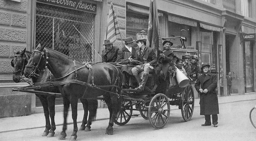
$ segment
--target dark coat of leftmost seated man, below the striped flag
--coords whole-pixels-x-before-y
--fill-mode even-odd
[[[107,63],[113,63],[117,61],[117,52],[119,50],[119,47],[112,47],[110,51],[107,51],[105,48],[101,54],[101,61],[107,62]]]

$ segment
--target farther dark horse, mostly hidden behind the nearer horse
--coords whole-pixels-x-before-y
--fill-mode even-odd
[[[16,83],[20,82],[21,77],[23,75],[23,71],[25,69],[25,65],[27,65],[29,56],[31,54],[32,53],[29,51],[26,51],[26,48],[25,48],[23,51],[21,51],[21,52],[18,51],[14,55],[14,58],[11,61],[11,66],[14,67],[14,71],[13,71],[13,81],[14,82],[16,82]],[[32,77],[33,83],[46,82],[46,81],[49,81],[50,79],[53,79],[53,81],[54,81],[55,77],[53,75],[51,75],[51,77],[50,77],[49,69],[44,69],[44,71],[37,71],[36,73],[40,77],[39,76]],[[38,91],[60,93],[58,87],[43,87],[43,88],[39,89]],[[45,131],[43,132],[42,136],[53,137],[54,130],[56,129],[55,122],[54,122],[55,96],[40,95],[40,94],[36,94],[36,96],[40,99],[42,106],[43,106],[43,111],[45,114],[46,128],[45,128]],[[91,125],[92,121],[94,121],[96,118],[98,101],[97,100],[87,101],[87,99],[80,99],[80,101],[83,104],[84,116],[83,116],[82,125],[79,130],[90,131],[90,128],[91,128],[90,125]],[[88,122],[87,122],[88,110],[89,110],[89,118],[88,118]],[[50,122],[49,115],[51,118],[51,122]]]

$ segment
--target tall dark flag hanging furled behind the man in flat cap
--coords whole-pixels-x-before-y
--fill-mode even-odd
[[[159,19],[157,12],[156,0],[150,0],[149,6],[149,29],[147,34],[149,41],[149,47],[153,47],[156,51],[157,58],[159,56],[159,50],[163,50],[162,39],[160,36]]]

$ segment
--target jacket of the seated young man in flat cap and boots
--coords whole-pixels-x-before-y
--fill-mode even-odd
[[[143,58],[141,55],[139,55],[139,50],[140,49],[136,50],[136,58],[134,60],[141,61],[143,64]],[[153,48],[147,47],[147,49],[145,50],[145,55],[147,63],[149,63],[151,66],[157,63],[157,56],[155,55],[155,50]]]

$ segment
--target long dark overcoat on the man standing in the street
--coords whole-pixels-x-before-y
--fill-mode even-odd
[[[214,91],[217,87],[217,75],[208,72],[198,77],[195,83],[195,89],[207,89],[208,92],[200,94],[200,115],[219,114],[219,103],[217,93]]]

